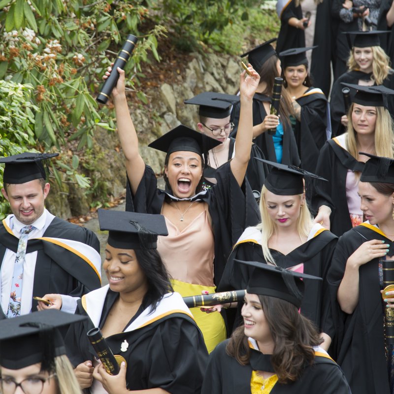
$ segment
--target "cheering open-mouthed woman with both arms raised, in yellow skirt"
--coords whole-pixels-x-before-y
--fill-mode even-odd
[[[202,171],[207,152],[221,142],[180,125],[149,146],[166,153],[165,190],[138,151],[138,138],[125,96],[124,71],[113,91],[119,138],[126,157],[128,195],[126,209],[162,213],[168,237],[160,237],[158,251],[172,277],[172,286],[182,296],[215,292],[227,257],[242,230],[259,221],[252,190],[244,182],[252,146],[252,101],[259,74],[240,75],[241,113],[235,155],[216,172],[217,183],[202,191]],[[107,73],[108,74],[108,73]],[[195,308],[193,315],[202,330],[208,351],[226,338],[220,313],[210,315]]]

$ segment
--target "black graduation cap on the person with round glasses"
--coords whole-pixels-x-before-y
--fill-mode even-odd
[[[240,100],[239,96],[223,93],[204,92],[192,99],[185,100],[185,104],[199,105],[198,115],[207,118],[223,119],[230,116],[230,108]]]

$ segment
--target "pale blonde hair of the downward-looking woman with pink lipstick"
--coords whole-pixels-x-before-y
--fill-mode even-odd
[[[257,225],[257,228],[262,231],[262,248],[263,248],[263,256],[267,263],[271,263],[276,265],[274,258],[271,255],[268,247],[268,240],[271,238],[273,234],[278,231],[278,227],[276,223],[270,218],[268,214],[267,204],[265,200],[265,192],[267,188],[263,186],[261,198],[260,198],[260,215],[262,218],[262,223]],[[304,194],[297,195],[299,199],[301,199]],[[309,212],[306,201],[304,201],[303,206],[300,207],[299,216],[297,218],[297,233],[300,238],[308,237],[309,231],[313,226],[312,215]]]

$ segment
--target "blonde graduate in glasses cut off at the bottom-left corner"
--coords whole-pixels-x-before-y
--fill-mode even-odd
[[[59,328],[84,319],[52,309],[2,320],[1,393],[81,394]]]

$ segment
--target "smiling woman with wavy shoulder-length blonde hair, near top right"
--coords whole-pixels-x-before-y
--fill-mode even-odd
[[[348,32],[350,56],[348,71],[342,74],[332,85],[330,97],[330,113],[332,136],[343,134],[348,123],[347,110],[342,93],[342,83],[362,86],[383,85],[394,88],[394,70],[390,67],[390,59],[380,47],[379,34],[387,32]],[[354,36],[353,44],[351,38]],[[353,99],[354,93],[350,94]],[[389,99],[389,112],[394,113],[394,99]]]

